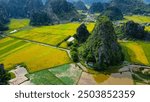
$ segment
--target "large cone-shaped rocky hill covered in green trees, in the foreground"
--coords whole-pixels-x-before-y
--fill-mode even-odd
[[[93,33],[83,45],[80,52],[86,62],[94,63],[96,70],[117,65],[124,60],[124,56],[108,17],[99,17]]]

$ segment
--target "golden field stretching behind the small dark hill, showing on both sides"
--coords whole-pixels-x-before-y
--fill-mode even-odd
[[[13,34],[13,36],[57,45],[68,36],[74,35],[79,26],[80,23],[67,23],[52,26],[33,27],[32,29],[23,29]],[[94,28],[94,23],[87,24],[87,28],[91,32]]]

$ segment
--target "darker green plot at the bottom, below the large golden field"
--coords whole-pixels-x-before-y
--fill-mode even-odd
[[[48,70],[27,75],[36,85],[64,85],[64,83]]]

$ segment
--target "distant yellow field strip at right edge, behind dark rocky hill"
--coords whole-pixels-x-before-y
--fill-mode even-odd
[[[137,23],[150,23],[150,17],[142,16],[142,15],[132,15],[132,16],[125,16],[124,21],[132,20]]]

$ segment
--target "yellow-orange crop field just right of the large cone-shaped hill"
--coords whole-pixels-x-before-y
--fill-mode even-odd
[[[127,51],[132,62],[145,65],[149,64],[143,48],[138,43],[128,42],[124,43],[124,46],[128,48]]]

